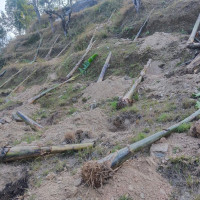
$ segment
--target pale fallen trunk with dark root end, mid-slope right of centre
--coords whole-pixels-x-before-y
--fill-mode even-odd
[[[138,85],[142,82],[144,75],[146,74],[147,69],[150,67],[152,60],[150,59],[148,63],[144,66],[144,69],[141,71],[139,78],[134,82],[131,89],[126,93],[126,95],[119,100],[117,104],[117,109],[124,108],[125,106],[131,105],[133,103],[133,94],[137,90]]]

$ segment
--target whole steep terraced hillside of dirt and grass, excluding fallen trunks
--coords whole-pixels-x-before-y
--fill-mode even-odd
[[[147,26],[133,41],[153,8]],[[52,34],[43,16],[40,34],[33,23],[26,35],[11,41],[0,62],[4,63],[0,74],[6,71],[0,77],[0,147],[88,142],[95,146],[8,163],[1,162],[7,153],[1,151],[0,200],[198,200],[200,139],[188,134],[193,122],[134,153],[100,188],[84,183],[81,169],[84,163],[167,130],[196,111],[193,94],[200,88],[199,65],[189,71],[185,62],[199,54],[187,48],[199,12],[199,0],[142,0],[139,13],[132,0],[104,0],[73,14],[67,37],[58,21]],[[45,59],[58,34],[50,58]],[[86,73],[77,70],[70,83],[30,103],[40,92],[67,80],[93,36],[95,43],[80,67],[97,57]],[[31,62],[41,37],[37,59]],[[109,52],[104,81],[97,83]],[[149,59],[152,64],[133,104],[118,110],[118,99]],[[34,131],[16,116],[17,111],[44,129]]]

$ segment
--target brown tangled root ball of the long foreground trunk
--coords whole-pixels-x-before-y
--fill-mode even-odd
[[[83,181],[92,188],[99,188],[113,176],[114,171],[97,161],[86,162],[81,170]]]

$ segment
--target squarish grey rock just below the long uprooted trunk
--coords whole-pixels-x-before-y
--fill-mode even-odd
[[[167,143],[152,144],[150,154],[152,157],[164,158],[168,152],[169,145]]]

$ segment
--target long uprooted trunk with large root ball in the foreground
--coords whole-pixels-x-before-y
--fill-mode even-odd
[[[89,161],[85,163],[82,167],[82,178],[85,183],[93,187],[101,186],[107,178],[109,178],[110,172],[117,169],[122,163],[128,160],[133,154],[144,147],[151,145],[162,137],[166,137],[172,133],[176,128],[184,123],[188,123],[200,115],[200,109],[184,119],[183,121],[165,129],[163,131],[157,132],[143,140],[133,143],[115,153],[111,153],[105,158],[98,161]],[[104,170],[103,172],[101,170]]]

